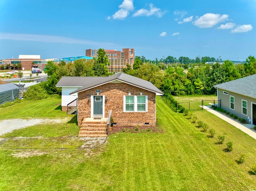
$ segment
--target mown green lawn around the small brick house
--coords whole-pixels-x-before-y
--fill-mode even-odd
[[[52,106],[48,99],[52,99]],[[42,117],[65,118],[56,98],[41,100]],[[38,102],[38,103],[40,103]],[[46,103],[44,103],[46,102]],[[4,108],[18,108],[23,117],[31,117],[19,109],[20,104]],[[29,106],[32,104],[32,106]],[[26,109],[36,104],[27,102]],[[50,111],[48,111],[50,110]],[[0,110],[2,112],[2,110]],[[32,110],[31,110],[32,112]],[[39,112],[40,113],[40,112]],[[47,114],[48,113],[48,114]],[[15,118],[12,112],[5,112]],[[37,112],[33,116],[38,116]],[[157,118],[164,134],[117,133],[108,142],[93,149],[39,149],[50,144],[36,142],[38,150],[8,150],[13,145],[31,146],[29,142],[8,140],[0,145],[0,190],[252,190],[256,189],[256,175],[249,173],[256,162],[256,140],[237,128],[220,120],[206,110],[193,112],[216,130],[216,136],[224,134],[225,143],[232,140],[233,152],[224,152],[225,144],[208,138],[182,113],[175,113],[157,97]],[[2,117],[2,114],[1,114]],[[4,118],[4,117],[3,117]],[[34,130],[33,130],[34,128]],[[38,126],[22,129],[13,136],[44,136],[49,128],[36,133]],[[70,128],[64,126],[63,128]],[[31,131],[31,133],[30,133]],[[68,132],[68,130],[66,130]],[[26,133],[25,133],[26,132]],[[73,131],[72,131],[73,132]],[[66,132],[64,132],[66,134]],[[72,134],[72,133],[71,133]],[[76,134],[76,131],[73,132]],[[8,135],[12,137],[12,134]],[[50,135],[48,135],[50,136]],[[52,140],[51,140],[52,141]],[[54,146],[58,139],[54,139]],[[56,143],[57,142],[57,143]],[[61,142],[61,141],[60,141]],[[61,142],[62,143],[62,142]],[[79,145],[77,142],[75,144]],[[17,153],[34,152],[42,155],[28,158],[15,157]],[[237,164],[240,153],[246,154],[245,163]],[[15,154],[15,155],[14,155]]]

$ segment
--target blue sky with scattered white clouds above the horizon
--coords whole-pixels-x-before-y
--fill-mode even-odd
[[[244,61],[256,56],[256,0],[0,0],[0,59],[99,48]]]

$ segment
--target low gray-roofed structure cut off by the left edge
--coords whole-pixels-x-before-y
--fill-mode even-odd
[[[19,96],[19,87],[13,83],[6,83],[0,80],[0,105],[14,101]]]

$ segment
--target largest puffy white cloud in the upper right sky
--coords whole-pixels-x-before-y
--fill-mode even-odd
[[[228,20],[227,14],[220,15],[214,13],[206,13],[203,16],[200,16],[198,20],[194,21],[193,24],[199,28],[211,28],[214,25],[226,20]]]

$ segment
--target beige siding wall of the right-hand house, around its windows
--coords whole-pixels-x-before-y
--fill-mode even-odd
[[[224,94],[223,91],[228,92],[228,95]],[[234,110],[230,109],[230,96],[234,96]],[[248,117],[251,119],[252,116],[252,104],[256,103],[256,98],[251,98],[248,96],[240,95],[237,93],[232,93],[230,91],[226,91],[224,89],[218,88],[218,100],[221,100],[220,105],[221,108],[227,110],[230,113],[235,114],[239,118],[244,118],[248,122]],[[242,114],[242,100],[247,101],[247,116]]]

